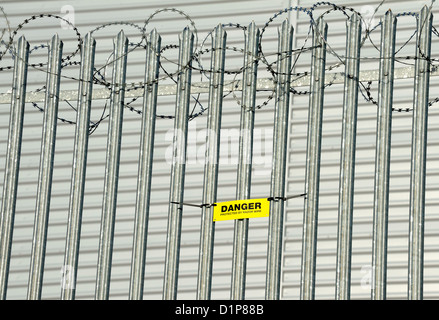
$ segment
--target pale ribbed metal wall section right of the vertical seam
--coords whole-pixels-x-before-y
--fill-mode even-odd
[[[299,1],[301,6],[310,7],[314,1]],[[365,18],[370,8],[376,8],[381,1],[335,1],[339,6],[353,7]],[[378,10],[375,24],[384,13],[391,8],[394,14],[403,12],[418,12],[422,6],[430,5],[431,1],[385,1]],[[329,7],[322,7],[317,12],[323,12]],[[318,13],[315,12],[315,16]],[[433,14],[437,16],[437,8],[433,6]],[[328,45],[341,56],[345,54],[346,27],[342,13],[331,13],[325,17],[328,23]],[[413,34],[416,20],[413,17],[398,18],[396,48],[399,49]],[[298,36],[296,47],[303,43],[309,26],[309,19],[299,14],[297,19]],[[372,33],[373,43],[379,48],[380,28]],[[364,30],[363,30],[364,35]],[[432,55],[437,48],[438,39],[433,36]],[[397,57],[414,56],[415,42],[412,40],[405,46]],[[365,41],[361,49],[360,71],[378,70],[379,52]],[[367,59],[375,57],[375,59]],[[311,59],[303,57],[296,71],[306,71],[310,68]],[[400,59],[395,68],[414,65],[413,61]],[[327,53],[328,68],[338,62],[334,55]],[[342,68],[334,70],[344,71]],[[430,101],[437,96],[438,79],[431,77]],[[374,98],[378,97],[378,84],[372,85]],[[394,108],[413,107],[413,78],[395,80]],[[298,88],[300,89],[300,88]],[[364,90],[363,90],[364,92]],[[316,265],[316,299],[333,299],[335,297],[336,254],[337,254],[337,221],[338,221],[338,187],[340,172],[340,146],[342,125],[343,84],[332,85],[325,90],[323,109],[323,137],[321,155],[321,182],[317,240]],[[288,193],[303,191],[305,181],[306,130],[308,124],[308,96],[293,95],[290,148]],[[429,109],[428,125],[428,156],[427,156],[427,185],[425,202],[425,261],[424,261],[424,298],[437,299],[439,296],[439,275],[437,274],[438,252],[438,214],[437,196],[438,185],[436,177],[439,173],[438,154],[435,146],[438,143],[438,109],[433,104]],[[370,299],[370,271],[372,265],[372,232],[373,232],[373,197],[375,174],[375,144],[376,144],[377,108],[366,102],[360,94],[357,123],[357,151],[355,168],[355,196],[353,211],[353,240],[352,240],[352,279],[351,298]],[[392,150],[390,165],[390,198],[389,198],[389,229],[388,229],[388,299],[406,299],[408,287],[408,232],[409,232],[409,196],[410,196],[410,161],[411,161],[411,112],[393,112]],[[302,250],[302,220],[303,203],[300,200],[288,203],[286,217],[286,239],[284,252],[284,278],[282,296],[285,299],[299,298],[300,268]]]

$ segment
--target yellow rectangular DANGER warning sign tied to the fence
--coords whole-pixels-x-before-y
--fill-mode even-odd
[[[269,214],[267,198],[218,202],[213,209],[213,221],[264,218]]]

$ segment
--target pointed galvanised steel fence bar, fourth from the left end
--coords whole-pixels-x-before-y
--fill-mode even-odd
[[[108,299],[110,294],[111,262],[113,255],[114,223],[116,219],[117,185],[122,140],[128,39],[123,31],[116,38],[114,50],[113,84],[105,167],[104,198],[99,237],[96,300]]]

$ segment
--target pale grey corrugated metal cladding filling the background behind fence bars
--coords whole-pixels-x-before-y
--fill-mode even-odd
[[[372,18],[374,9],[382,1],[356,1],[354,8],[364,17]],[[263,27],[274,13],[290,5],[310,7],[314,1],[206,1],[206,0],[163,0],[163,1],[2,1],[2,7],[7,15],[10,27],[14,29],[25,19],[40,13],[70,15],[81,36],[96,27],[117,21],[128,21],[143,27],[143,23],[156,10],[161,8],[177,8],[185,12],[195,22],[198,35],[198,46],[210,46],[210,40],[203,43],[208,32],[218,23],[239,23],[248,25],[252,20]],[[337,1],[338,5],[353,5],[352,1]],[[389,8],[393,12],[419,11],[430,1],[385,1],[379,8],[375,23]],[[328,6],[316,9],[315,15],[327,10]],[[69,10],[67,13],[66,10]],[[439,15],[439,10],[433,7],[433,12]],[[276,27],[288,14],[275,19],[264,34],[262,48],[269,62],[275,61],[276,56],[270,53],[277,49]],[[296,30],[295,48],[303,45],[310,46],[308,39],[309,17],[303,12],[293,11],[291,23]],[[326,17],[329,24],[328,44],[336,54],[344,55],[345,50],[345,16],[341,12],[333,12]],[[1,28],[7,27],[7,21],[0,16]],[[151,20],[147,26],[156,27],[163,37],[163,45],[176,44],[178,34],[190,21],[176,12],[164,12]],[[113,24],[97,30],[97,67],[103,67],[109,59],[113,38],[123,28],[132,43],[141,40],[139,30],[135,26]],[[403,47],[398,56],[414,55],[415,44],[410,41],[404,46],[415,30],[413,17],[400,17],[398,22],[397,43]],[[242,31],[228,28],[228,45],[243,47]],[[58,33],[65,43],[64,57],[77,48],[77,35],[60,24],[60,20],[41,18],[25,24],[18,34],[24,34],[31,47],[47,44],[51,36]],[[7,33],[6,33],[7,34]],[[4,38],[5,39],[5,38]],[[308,40],[307,40],[308,39]],[[376,58],[379,56],[374,45],[380,41],[379,29],[365,41],[362,49],[364,59],[361,70],[378,69]],[[437,47],[436,36],[433,49]],[[31,63],[45,62],[47,50],[36,49],[32,52]],[[177,50],[165,52],[169,59],[164,63],[168,71],[173,72]],[[331,65],[338,60],[336,54],[329,53],[328,63]],[[296,71],[306,71],[310,68],[310,54],[299,56]],[[9,60],[8,60],[9,59]],[[78,61],[74,56],[73,61]],[[209,67],[210,57],[202,57],[202,65]],[[238,51],[227,50],[226,68],[237,69],[242,64],[242,55]],[[413,64],[412,60],[400,59],[396,67]],[[13,64],[11,55],[3,59],[1,66]],[[128,81],[138,82],[143,79],[144,52],[133,51],[128,57]],[[263,66],[259,68],[260,76],[266,77]],[[342,71],[336,69],[335,71]],[[103,75],[111,76],[111,68],[102,68]],[[77,66],[63,69],[63,75],[77,77]],[[11,71],[2,71],[0,77],[0,92],[10,89]],[[201,76],[194,72],[194,80]],[[204,79],[206,81],[206,79]],[[35,68],[29,70],[29,90],[41,88],[45,83],[45,73]],[[164,82],[169,83],[169,82]],[[77,89],[77,83],[67,77],[62,79],[62,90]],[[97,86],[95,88],[98,88]],[[335,295],[335,263],[336,235],[338,214],[338,175],[340,162],[340,135],[342,111],[342,85],[332,85],[326,90],[322,170],[320,184],[320,212],[318,225],[318,251],[316,270],[316,298],[333,299]],[[306,90],[306,87],[297,88]],[[397,80],[395,84],[395,108],[411,107],[413,99],[413,79]],[[438,79],[432,77],[430,98],[439,96]],[[372,94],[377,94],[376,83],[372,86]],[[205,104],[207,95],[201,95],[200,101]],[[237,94],[239,98],[239,94]],[[259,92],[258,102],[263,103],[269,93]],[[169,115],[173,113],[173,96],[159,97],[158,113]],[[129,99],[127,99],[129,101]],[[141,99],[139,99],[141,100]],[[76,106],[76,102],[71,102]],[[105,108],[106,100],[96,100],[93,103],[92,118],[99,119]],[[131,104],[140,108],[141,102]],[[262,139],[260,148],[255,149],[257,158],[252,180],[252,197],[265,197],[269,194],[271,171],[271,144],[273,128],[273,108],[270,101],[256,113],[256,134]],[[9,276],[9,299],[24,299],[27,292],[27,282],[32,245],[32,232],[35,212],[35,197],[38,179],[40,152],[40,137],[42,128],[42,113],[32,104],[26,106],[24,140],[18,189],[17,214],[15,219],[12,258]],[[233,95],[227,96],[223,107],[223,129],[230,134],[239,128],[239,106]],[[293,95],[290,119],[289,161],[287,177],[287,194],[300,194],[304,191],[306,129],[308,119],[308,96]],[[195,112],[199,111],[199,107]],[[7,130],[9,108],[1,105],[0,110],[0,182],[3,183],[4,161],[7,145]],[[74,119],[74,110],[68,103],[60,106],[59,116]],[[202,129],[206,126],[206,117],[202,115],[190,122],[190,141],[196,141],[189,146],[189,163],[186,173],[185,200],[198,203],[201,200],[203,183],[202,159],[204,136]],[[167,212],[169,201],[170,165],[166,162],[172,143],[173,121],[159,119],[157,122],[156,148],[154,154],[154,172],[152,202],[149,222],[147,262],[145,274],[145,299],[161,299],[163,287],[163,272],[165,259],[165,242],[167,227]],[[358,109],[358,137],[356,152],[355,203],[352,242],[352,298],[370,298],[370,266],[372,262],[372,220],[373,220],[373,174],[375,161],[375,129],[376,107],[367,103],[360,96]],[[439,111],[436,104],[429,113],[429,145],[427,164],[427,191],[425,215],[425,270],[424,298],[439,298],[439,202],[437,199],[439,185],[435,177],[439,175]],[[116,234],[114,239],[113,268],[111,278],[111,299],[126,299],[128,297],[131,248],[134,229],[135,189],[137,178],[137,159],[140,132],[140,117],[135,112],[125,109],[122,156],[119,179],[118,208]],[[105,169],[105,150],[107,127],[103,121],[90,137],[88,169],[86,181],[85,208],[83,213],[82,238],[79,256],[78,282],[76,284],[77,299],[94,298],[96,280],[97,252],[99,245],[100,216],[103,193],[103,176]],[[74,141],[74,126],[60,123],[56,142],[55,168],[53,173],[53,191],[48,230],[48,242],[44,272],[43,299],[59,299],[61,292],[61,268],[63,265],[65,236],[67,228],[67,211],[70,193],[70,175],[72,165],[72,150]],[[230,136],[224,154],[237,155],[238,141]],[[225,144],[223,145],[225,146]],[[390,179],[390,211],[389,211],[389,243],[388,243],[388,298],[407,297],[407,268],[408,268],[408,222],[409,222],[409,184],[410,184],[410,146],[411,146],[411,113],[394,113],[392,136],[392,164]],[[236,152],[236,153],[235,153]],[[201,156],[200,156],[201,155]],[[259,156],[258,156],[259,155]],[[231,200],[235,197],[236,161],[222,163],[219,173],[218,201]],[[285,216],[285,238],[283,254],[283,274],[281,283],[281,298],[297,299],[300,291],[300,268],[302,248],[302,219],[303,199],[292,199],[288,202]],[[183,213],[183,232],[181,238],[181,256],[178,298],[193,299],[196,296],[198,245],[200,231],[200,210],[185,207]],[[248,273],[246,298],[263,299],[265,291],[265,269],[267,251],[267,219],[250,221],[248,246]],[[228,299],[230,296],[231,267],[232,267],[233,222],[217,223],[215,226],[215,250],[213,265],[213,299]]]

